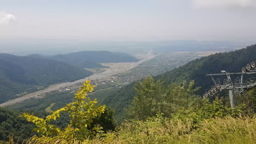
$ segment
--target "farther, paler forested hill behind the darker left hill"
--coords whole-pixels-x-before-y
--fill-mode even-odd
[[[50,57],[80,68],[103,68],[99,63],[137,62],[138,59],[126,53],[109,51],[80,51]]]

